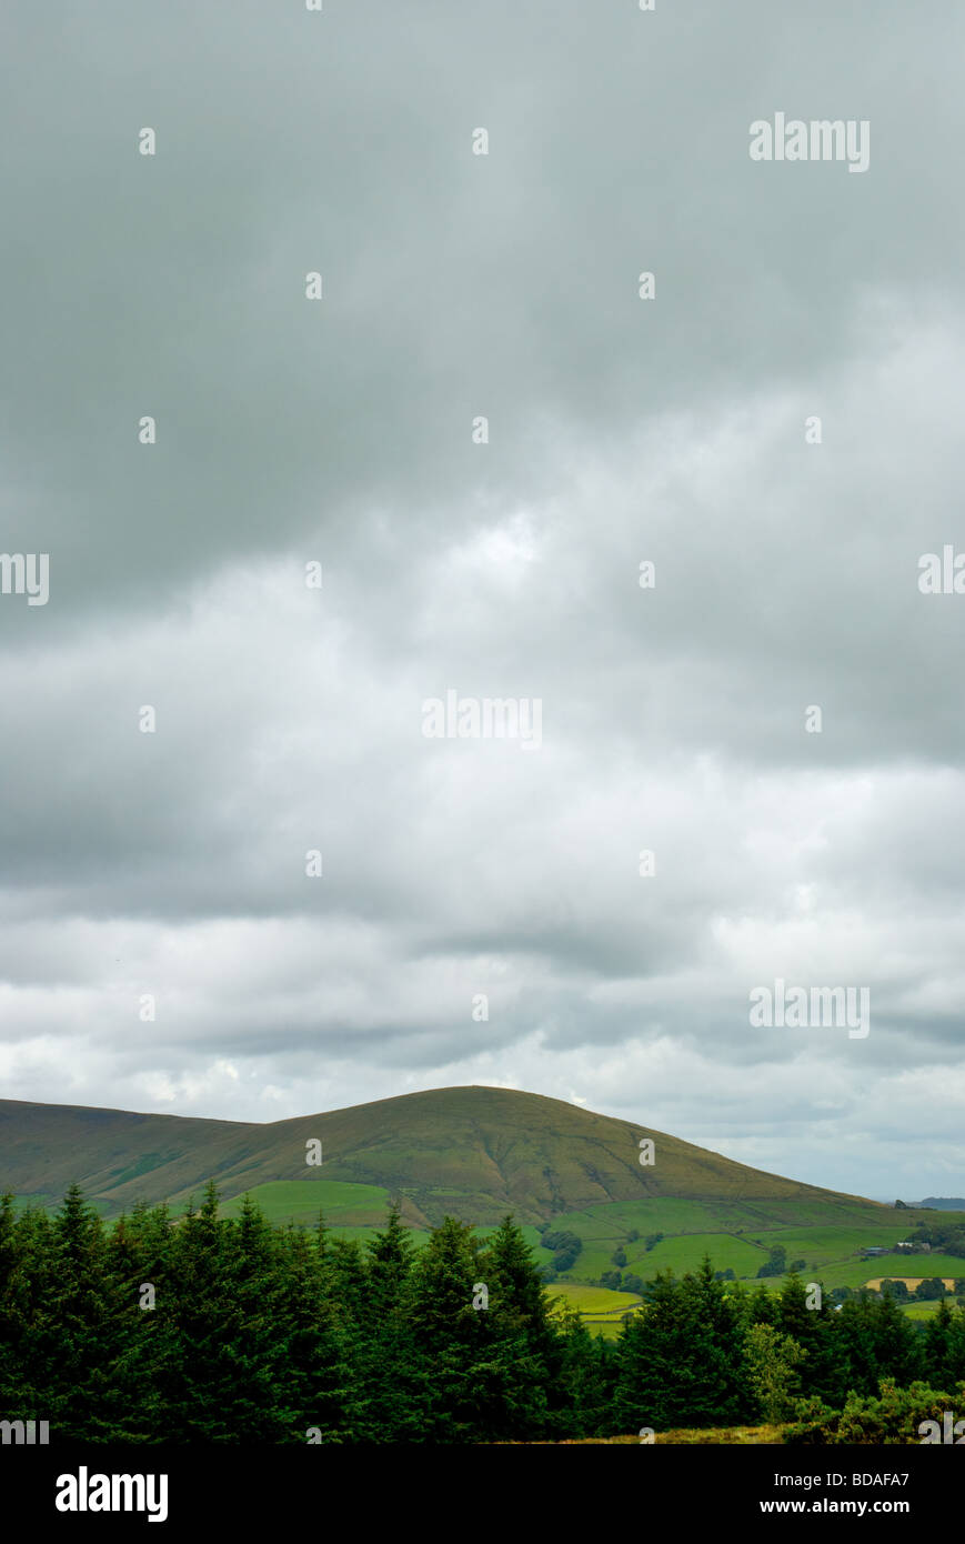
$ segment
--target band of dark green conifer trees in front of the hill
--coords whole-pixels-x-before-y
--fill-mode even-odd
[[[74,1186],[54,1217],[0,1200],[0,1419],[51,1441],[537,1442],[787,1420],[882,1382],[965,1380],[965,1309],[808,1306],[726,1286],[710,1260],[647,1283],[616,1340],[553,1302],[513,1218],[455,1218],[415,1251],[398,1207],[364,1248],[270,1226],[218,1192],[176,1221],[105,1226]],[[945,1397],[945,1396],[942,1396]],[[803,1408],[803,1407],[801,1407]],[[817,1407],[814,1407],[817,1408]]]

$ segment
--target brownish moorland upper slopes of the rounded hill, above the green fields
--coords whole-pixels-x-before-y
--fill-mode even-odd
[[[321,1169],[306,1164],[312,1138],[323,1144]],[[656,1144],[653,1167],[639,1163],[641,1138]],[[888,1210],[513,1089],[434,1089],[270,1124],[0,1099],[0,1189],[20,1197],[49,1201],[77,1183],[111,1215],[136,1200],[199,1197],[208,1180],[230,1200],[269,1181],[320,1175],[383,1187],[415,1226],[435,1224],[446,1212],[485,1224],[506,1210],[539,1223],[605,1201],[658,1197],[811,1200],[821,1212],[860,1200]]]

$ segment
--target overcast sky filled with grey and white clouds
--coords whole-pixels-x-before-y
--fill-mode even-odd
[[[965,1194],[963,46],[3,6],[3,1096],[489,1084]],[[752,1024],[778,980],[868,1033]]]

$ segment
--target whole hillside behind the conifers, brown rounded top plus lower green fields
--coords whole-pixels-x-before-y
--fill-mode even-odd
[[[641,1138],[655,1143],[653,1166],[639,1163]],[[321,1167],[306,1164],[312,1139]],[[250,1194],[272,1223],[310,1226],[323,1210],[335,1232],[361,1241],[392,1198],[417,1244],[446,1212],[483,1234],[514,1212],[537,1263],[556,1269],[540,1231],[576,1235],[579,1254],[550,1289],[602,1334],[616,1334],[621,1311],[636,1305],[633,1278],[679,1275],[704,1254],[716,1271],[757,1282],[780,1244],[787,1265],[803,1261],[828,1289],[888,1274],[965,1275],[965,1260],[939,1254],[860,1257],[934,1212],[821,1190],[534,1093],[438,1089],[266,1126],[0,1101],[0,1189],[19,1206],[54,1209],[76,1181],[107,1218],[139,1198],[167,1200],[178,1215],[212,1178],[227,1215]],[[622,1291],[610,1289],[622,1283],[615,1268],[628,1278]],[[610,1286],[593,1285],[604,1277]]]

